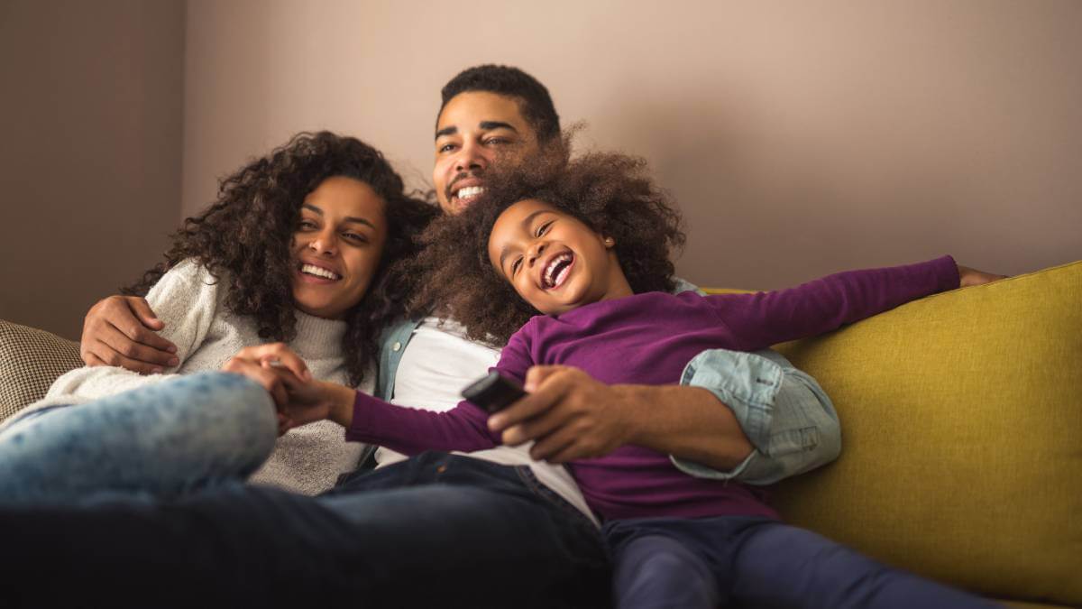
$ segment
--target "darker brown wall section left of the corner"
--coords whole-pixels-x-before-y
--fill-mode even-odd
[[[177,221],[184,4],[0,0],[0,318],[78,338]]]

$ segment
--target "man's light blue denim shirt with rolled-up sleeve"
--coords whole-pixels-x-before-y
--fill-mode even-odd
[[[676,280],[674,293],[696,290]],[[394,397],[395,374],[406,346],[421,320],[404,320],[383,331],[375,396]],[[713,393],[736,415],[754,446],[748,457],[728,471],[670,456],[681,471],[696,478],[770,484],[826,465],[842,450],[842,428],[834,405],[819,384],[796,370],[780,353],[710,349],[684,367],[681,385]]]

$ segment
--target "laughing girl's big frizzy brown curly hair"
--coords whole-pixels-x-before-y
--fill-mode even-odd
[[[481,200],[421,233],[424,249],[404,263],[421,277],[407,314],[453,318],[469,338],[501,346],[539,314],[488,258],[496,220],[526,199],[547,203],[616,239],[620,268],[635,294],[672,291],[670,255],[684,245],[682,220],[669,195],[650,179],[646,161],[611,153],[568,160],[567,145],[491,176]]]

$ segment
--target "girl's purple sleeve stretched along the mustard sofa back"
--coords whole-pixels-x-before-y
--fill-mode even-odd
[[[778,291],[707,298],[737,337],[739,349],[756,351],[837,329],[958,286],[958,264],[945,256],[905,267],[837,273]]]

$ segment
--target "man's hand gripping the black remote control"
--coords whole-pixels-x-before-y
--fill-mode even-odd
[[[606,455],[630,443],[633,425],[622,406],[630,389],[606,385],[569,366],[533,366],[527,397],[492,415],[488,426],[505,444],[536,440],[530,456],[550,463]]]

